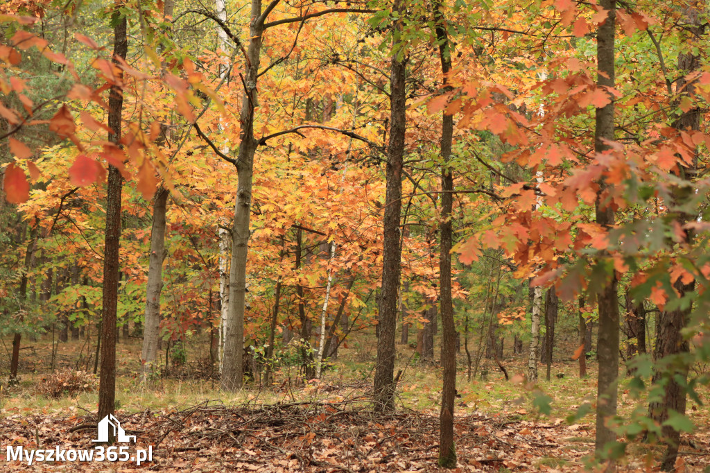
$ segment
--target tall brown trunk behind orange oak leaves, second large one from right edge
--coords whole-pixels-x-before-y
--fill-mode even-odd
[[[596,60],[599,73],[596,83],[599,87],[614,87],[614,28],[616,28],[616,0],[601,0],[600,6],[606,11],[606,21],[596,31]],[[607,92],[609,93],[609,92]],[[594,151],[604,153],[609,149],[608,141],[614,139],[614,97],[601,109],[596,109],[594,128]],[[615,223],[614,212],[606,196],[608,185],[601,180],[596,195],[596,223],[609,229]],[[608,254],[602,254],[596,264],[603,264]],[[608,457],[608,443],[616,442],[616,433],[608,425],[616,415],[618,364],[619,364],[619,312],[616,290],[616,272],[611,274],[599,294],[599,332],[596,342],[596,356],[599,361],[596,398],[596,439],[594,450],[598,456]]]

